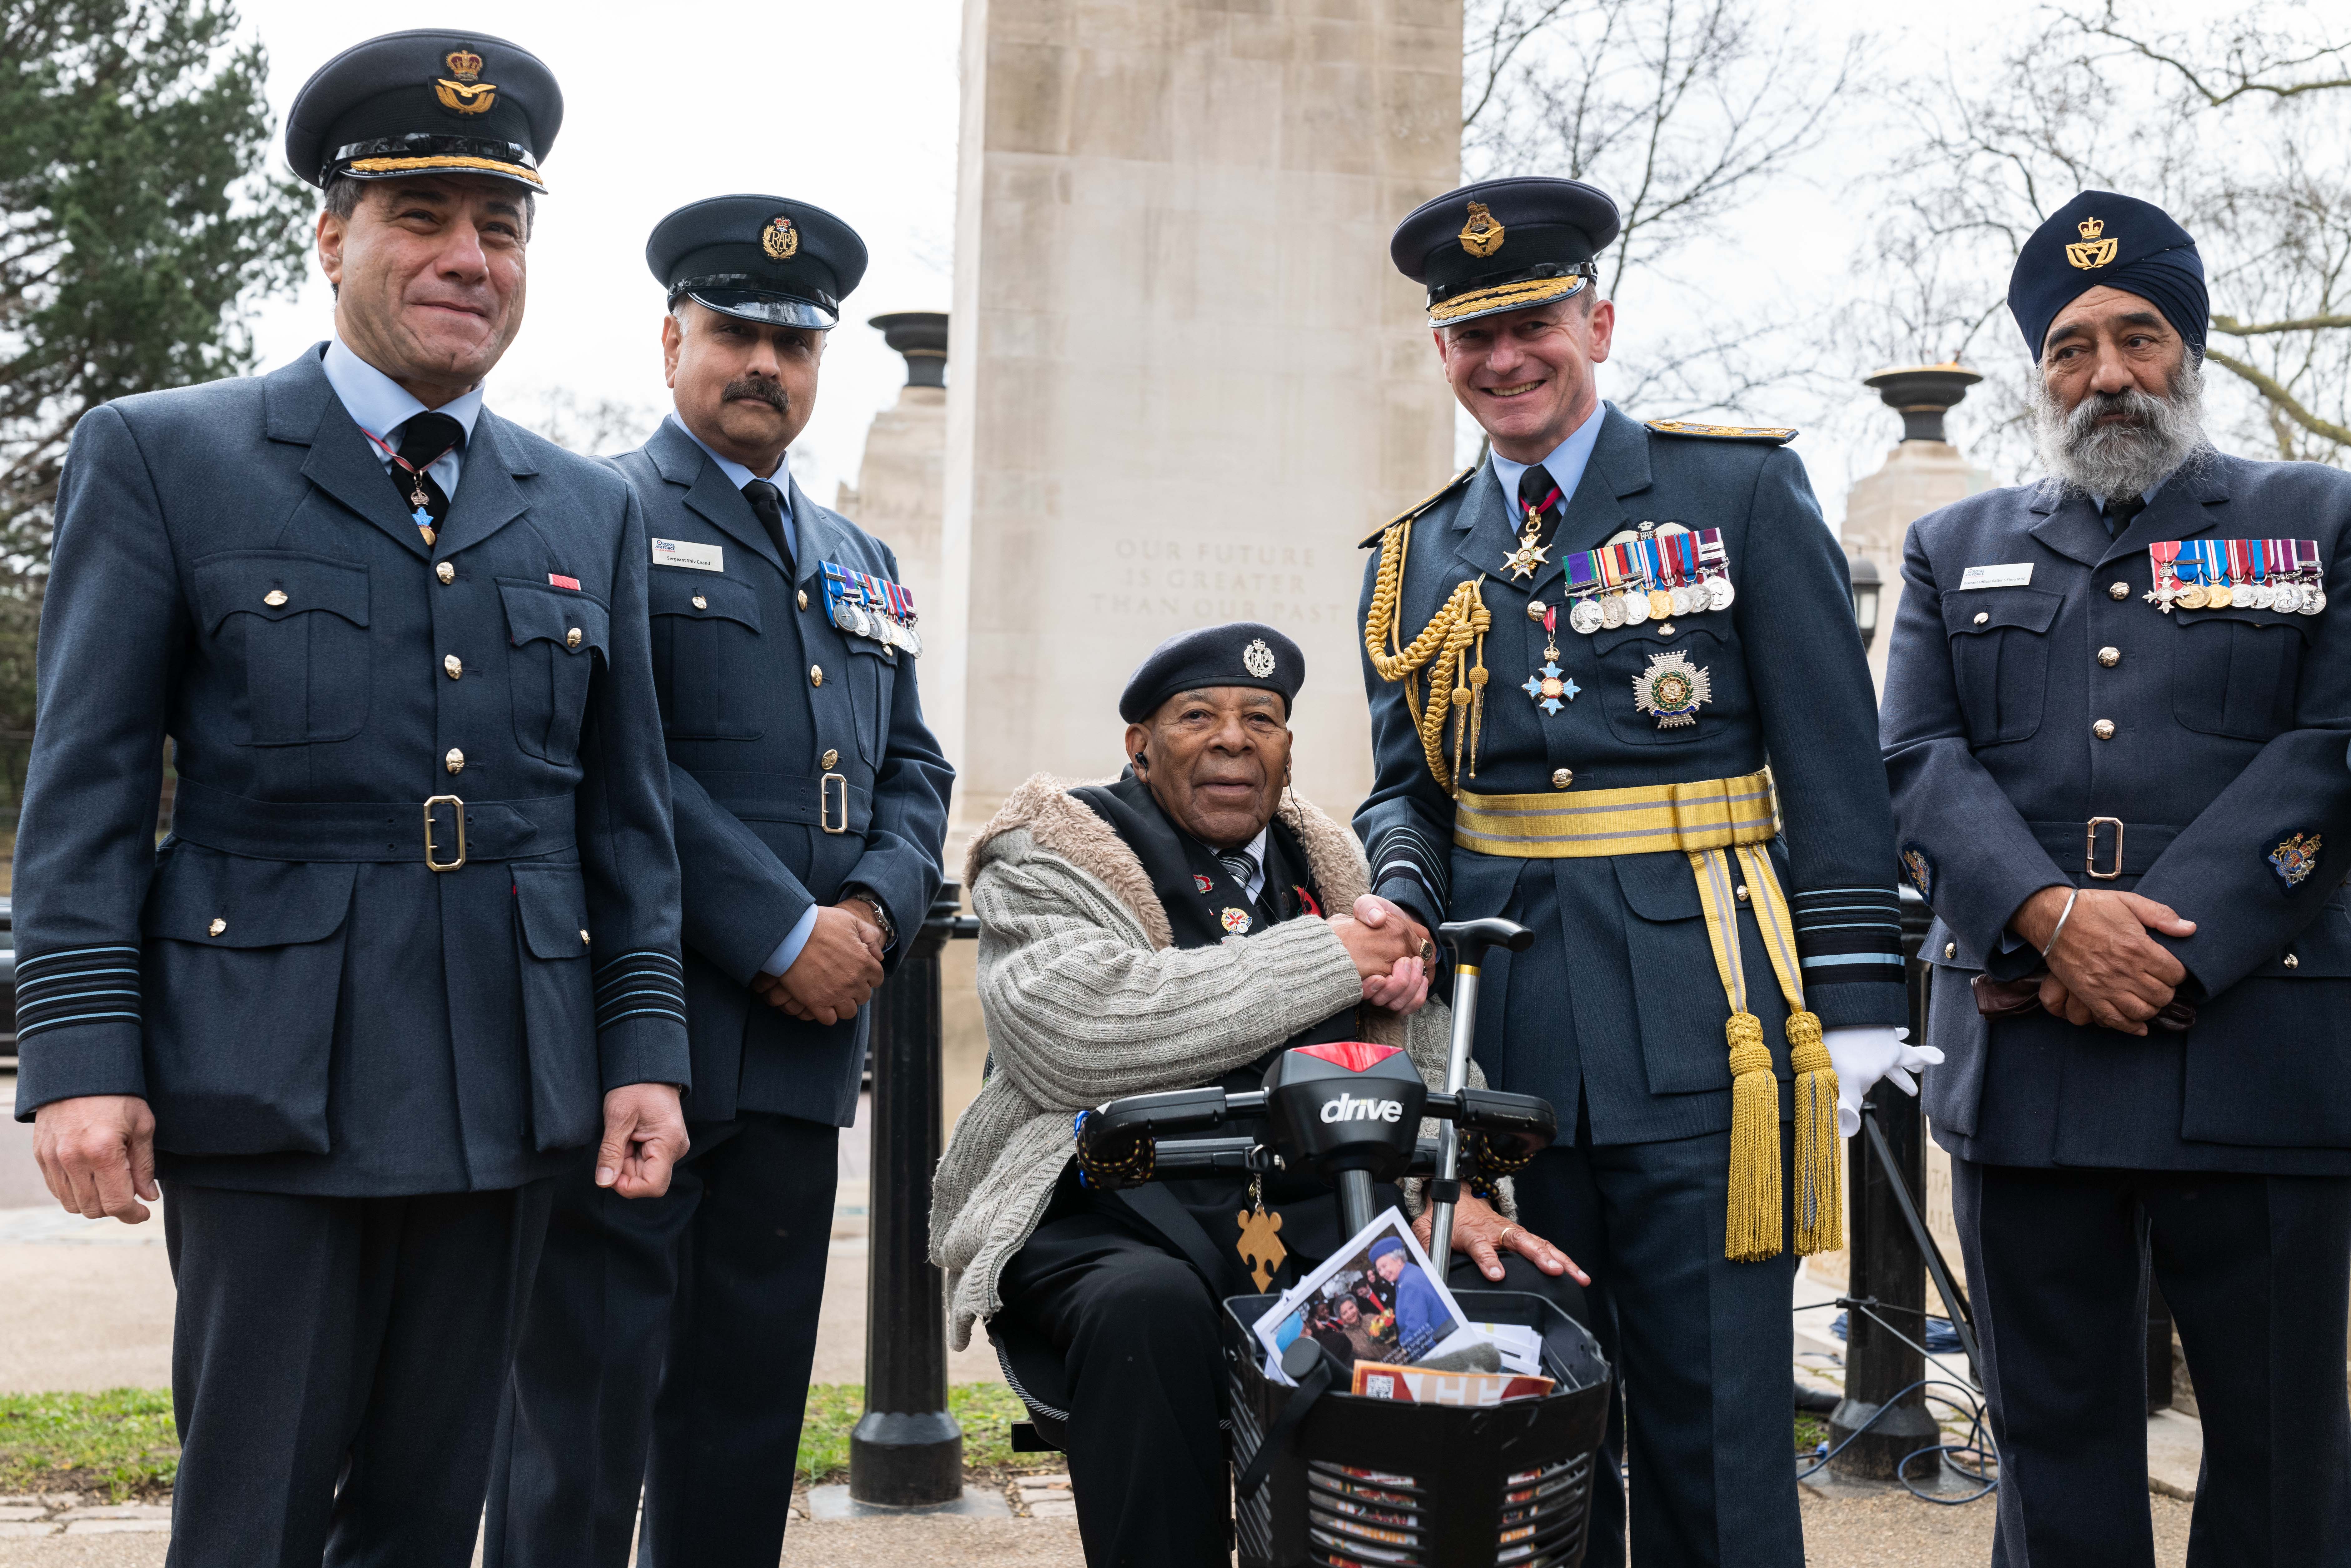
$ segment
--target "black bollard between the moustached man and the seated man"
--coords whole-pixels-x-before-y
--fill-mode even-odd
[[[959,907],[947,882],[870,1004],[865,1415],[849,1434],[849,1495],[886,1507],[955,1502],[964,1493],[964,1429],[947,1413],[947,1305],[929,1255],[943,1112],[938,952],[980,929],[959,919]]]

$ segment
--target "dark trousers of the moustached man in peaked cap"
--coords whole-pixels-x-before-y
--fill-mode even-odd
[[[776,1568],[842,1128],[696,1124],[658,1199],[555,1178],[491,1462],[487,1568]]]

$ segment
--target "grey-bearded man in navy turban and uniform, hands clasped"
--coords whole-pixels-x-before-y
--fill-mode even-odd
[[[1911,524],[1883,708],[1994,1561],[2154,1561],[2151,1267],[2203,1415],[2189,1561],[2339,1563],[2351,475],[2208,444],[2203,259],[2158,207],[2083,190],[2008,306],[2048,477]]]

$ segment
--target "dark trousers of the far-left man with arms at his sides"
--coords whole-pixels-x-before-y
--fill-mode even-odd
[[[465,1568],[552,1182],[165,1182],[172,1568]]]

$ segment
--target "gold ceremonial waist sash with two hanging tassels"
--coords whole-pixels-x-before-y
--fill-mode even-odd
[[[1681,851],[1690,858],[1714,971],[1730,1001],[1730,1211],[1723,1255],[1740,1262],[1780,1255],[1780,1086],[1763,1020],[1747,1011],[1742,893],[1787,999],[1787,1056],[1796,1074],[1796,1251],[1834,1253],[1846,1244],[1836,1067],[1820,1039],[1820,1018],[1803,1006],[1796,922],[1766,849],[1773,837],[1768,771],[1552,795],[1462,790],[1453,809],[1455,849],[1481,856],[1594,860]]]

